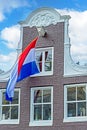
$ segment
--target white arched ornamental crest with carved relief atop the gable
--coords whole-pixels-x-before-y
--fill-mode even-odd
[[[61,16],[55,9],[52,8],[39,8],[33,11],[25,21],[20,22],[22,26],[48,26],[51,24],[56,24],[62,22],[65,19],[69,19],[70,16],[64,15]]]

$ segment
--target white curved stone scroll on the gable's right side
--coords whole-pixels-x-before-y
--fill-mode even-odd
[[[70,55],[70,44],[64,44],[64,77],[85,75],[87,75],[87,67],[75,64]]]

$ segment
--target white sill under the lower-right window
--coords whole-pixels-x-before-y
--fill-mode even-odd
[[[64,118],[63,122],[84,122],[87,121],[87,116],[83,117],[68,117]]]

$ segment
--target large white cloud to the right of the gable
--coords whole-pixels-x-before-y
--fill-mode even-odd
[[[58,10],[62,15],[70,15],[69,36],[71,42],[71,55],[75,62],[87,63],[87,10]]]

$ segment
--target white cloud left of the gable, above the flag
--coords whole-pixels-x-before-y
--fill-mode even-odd
[[[0,54],[0,69],[8,71],[14,65],[17,58],[16,49],[20,42],[20,27],[15,25],[4,28],[1,31],[1,40],[3,41],[2,44],[8,47],[8,50],[12,49],[12,52],[9,52],[8,55]]]

